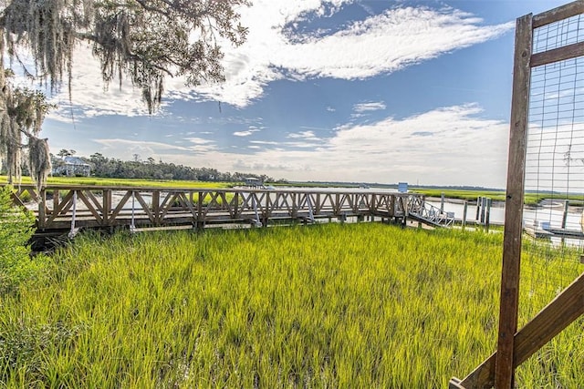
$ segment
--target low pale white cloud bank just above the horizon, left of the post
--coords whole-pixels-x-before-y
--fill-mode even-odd
[[[213,160],[214,168],[221,171],[254,170],[297,180],[419,181],[504,188],[509,127],[503,121],[481,118],[481,112],[475,105],[453,106],[410,118],[345,125],[318,146],[283,142],[279,143],[282,148],[262,148],[262,143],[255,142],[253,155],[242,154],[240,148],[232,153],[209,149],[196,154],[168,153],[162,148],[157,156],[191,166],[207,166]]]

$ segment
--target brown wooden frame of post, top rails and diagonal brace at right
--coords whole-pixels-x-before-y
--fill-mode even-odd
[[[516,19],[497,348],[464,379],[453,378],[451,389],[494,386],[511,389],[516,367],[584,313],[584,274],[581,274],[530,322],[517,329],[532,69],[584,56],[584,36],[582,41],[580,37],[570,37],[560,39],[559,45],[542,48],[534,45],[534,31],[579,15],[584,15],[584,0]]]

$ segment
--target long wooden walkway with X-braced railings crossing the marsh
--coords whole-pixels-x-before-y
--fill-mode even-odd
[[[333,220],[405,223],[422,195],[354,189],[179,189],[21,185],[15,204],[36,214],[36,235],[79,229],[267,227]],[[31,207],[31,201],[34,207]]]

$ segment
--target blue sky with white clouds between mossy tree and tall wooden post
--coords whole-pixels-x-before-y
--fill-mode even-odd
[[[80,47],[72,105],[51,97],[43,137],[276,179],[504,188],[515,20],[564,3],[254,0],[227,81],[169,79],[151,116],[139,90],[104,90]]]

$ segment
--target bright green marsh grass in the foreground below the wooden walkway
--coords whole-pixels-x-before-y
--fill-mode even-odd
[[[0,382],[445,388],[495,349],[501,247],[373,223],[82,235],[0,300]],[[581,271],[545,261],[526,288]],[[553,296],[522,294],[520,321]],[[525,363],[518,387],[583,387],[583,327]]]

